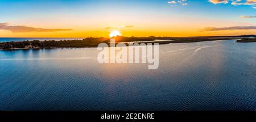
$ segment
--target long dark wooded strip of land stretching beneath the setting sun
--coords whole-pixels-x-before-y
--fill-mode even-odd
[[[216,41],[216,40],[237,40],[237,43],[253,43],[255,35],[243,36],[200,36],[200,37],[115,37],[116,44],[125,43],[196,43],[201,41]],[[33,40],[33,41],[11,41],[0,43],[1,50],[7,49],[41,49],[41,48],[91,48],[98,47],[98,44],[110,44],[108,37],[87,37],[82,40]]]

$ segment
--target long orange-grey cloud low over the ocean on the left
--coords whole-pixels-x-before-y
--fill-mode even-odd
[[[57,32],[57,31],[72,31],[71,29],[46,29],[46,28],[34,28],[27,26],[10,26],[9,23],[0,23],[0,30],[6,30],[11,32]]]

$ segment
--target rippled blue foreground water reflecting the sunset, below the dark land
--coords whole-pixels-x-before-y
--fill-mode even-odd
[[[159,69],[96,48],[0,51],[0,110],[256,110],[256,43],[160,45]]]

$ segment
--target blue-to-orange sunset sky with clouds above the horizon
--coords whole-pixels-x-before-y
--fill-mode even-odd
[[[256,0],[0,0],[0,37],[256,34]]]

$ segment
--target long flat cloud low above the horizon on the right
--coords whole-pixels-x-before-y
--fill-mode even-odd
[[[256,30],[256,26],[234,26],[234,27],[223,27],[223,28],[207,27],[207,28],[203,28],[200,31],[227,31],[227,30]]]

